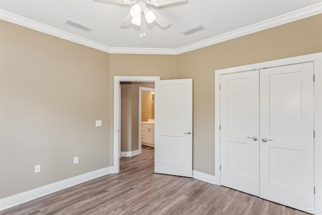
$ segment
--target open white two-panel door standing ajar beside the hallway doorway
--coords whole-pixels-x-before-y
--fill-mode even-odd
[[[192,79],[155,81],[154,172],[192,177]]]

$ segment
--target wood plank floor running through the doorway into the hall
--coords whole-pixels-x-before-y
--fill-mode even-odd
[[[193,178],[154,174],[153,148],[121,158],[106,175],[0,211],[0,214],[306,214]]]

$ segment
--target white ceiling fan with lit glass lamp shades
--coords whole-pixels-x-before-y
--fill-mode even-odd
[[[148,24],[155,21],[156,24],[162,28],[166,28],[171,25],[170,21],[155,11],[148,8],[148,6],[159,7],[170,5],[178,2],[185,2],[188,0],[99,0],[105,3],[116,3],[122,5],[133,5],[130,9],[130,13],[121,22],[121,27],[129,27],[131,24],[141,26],[142,15]]]

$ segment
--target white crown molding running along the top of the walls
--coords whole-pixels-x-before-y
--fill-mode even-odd
[[[108,53],[124,53],[124,54],[181,54],[195,49],[214,45],[220,42],[231,40],[233,38],[245,36],[265,29],[273,28],[279,25],[290,23],[299,19],[307,18],[322,13],[322,3],[318,3],[306,8],[299,9],[272,19],[268,19],[244,28],[240,28],[231,32],[227,32],[215,37],[208,38],[193,44],[182,46],[176,49],[171,48],[128,48],[128,47],[110,47],[89,39],[85,39],[59,29],[35,22],[33,20],[12,14],[10,12],[0,10],[0,19],[12,22],[27,28],[31,28],[49,35],[53,35],[62,39],[66,39],[78,44],[89,46]]]

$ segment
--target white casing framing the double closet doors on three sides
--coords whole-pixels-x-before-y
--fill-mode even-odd
[[[314,82],[314,203],[322,211],[322,52],[215,70],[215,181],[220,185],[220,76],[254,69],[313,62]],[[313,81],[313,77],[312,77]],[[313,135],[313,133],[312,133]],[[313,192],[313,187],[312,187]]]

